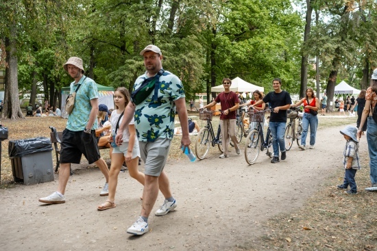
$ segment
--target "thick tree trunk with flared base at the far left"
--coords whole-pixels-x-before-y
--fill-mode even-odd
[[[8,67],[5,69],[6,93],[4,96],[3,114],[1,118],[24,118],[20,107],[19,99],[19,79],[17,75],[17,49],[16,49],[16,23],[10,27],[10,38],[5,38],[6,62]]]

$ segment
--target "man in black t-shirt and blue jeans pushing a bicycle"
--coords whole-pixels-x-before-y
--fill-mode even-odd
[[[269,129],[273,138],[273,158],[271,163],[279,162],[279,148],[282,152],[282,160],[287,155],[285,150],[284,132],[285,124],[287,124],[287,109],[291,106],[291,96],[288,92],[281,89],[282,81],[278,78],[273,79],[273,92],[269,92],[262,100],[256,102],[252,107],[260,105],[261,103],[269,103],[271,106],[271,116],[269,118]]]

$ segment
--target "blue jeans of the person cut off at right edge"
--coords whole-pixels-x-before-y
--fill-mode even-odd
[[[369,151],[370,181],[377,186],[377,123],[368,117],[367,142]]]

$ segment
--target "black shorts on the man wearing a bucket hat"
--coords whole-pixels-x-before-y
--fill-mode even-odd
[[[82,155],[86,157],[89,164],[95,163],[101,158],[95,130],[92,130],[91,133],[84,133],[84,131],[64,129],[60,146],[60,163],[80,164]]]

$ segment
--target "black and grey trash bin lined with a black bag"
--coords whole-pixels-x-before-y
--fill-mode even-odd
[[[48,137],[10,140],[8,153],[14,181],[34,185],[53,181],[52,146]]]

